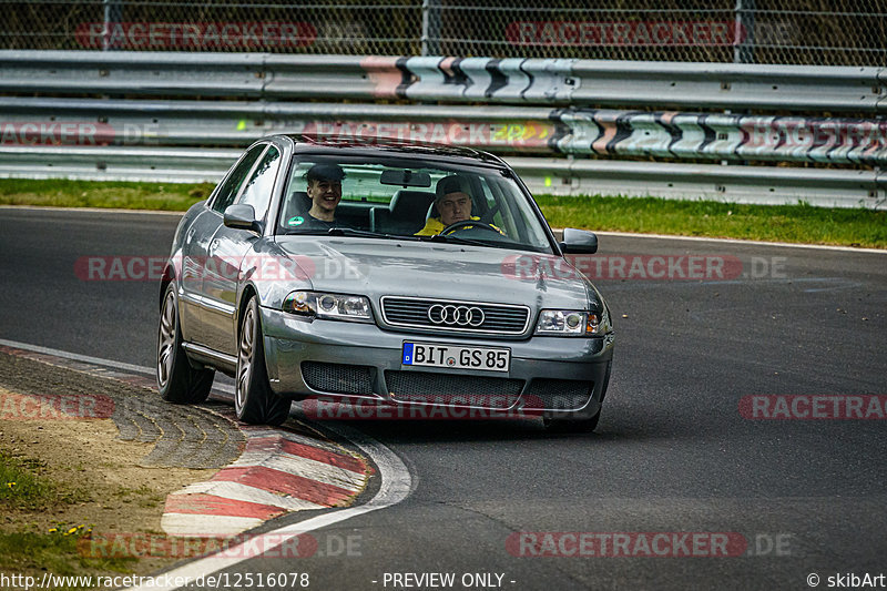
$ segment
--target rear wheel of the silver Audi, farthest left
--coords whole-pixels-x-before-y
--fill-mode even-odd
[[[169,403],[192,405],[210,396],[215,371],[194,369],[182,348],[182,328],[179,324],[179,298],[175,284],[170,283],[163,293],[157,327],[157,390]]]

